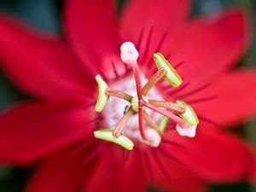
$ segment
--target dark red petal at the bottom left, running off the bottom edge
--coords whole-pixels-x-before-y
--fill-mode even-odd
[[[88,150],[89,149],[89,150]],[[90,174],[97,160],[84,164],[84,158],[91,153],[90,148],[79,154],[70,154],[75,148],[66,148],[51,155],[32,174],[26,191],[28,192],[73,192],[79,191],[84,177]]]

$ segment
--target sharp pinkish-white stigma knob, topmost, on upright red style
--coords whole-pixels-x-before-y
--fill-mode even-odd
[[[132,61],[137,61],[139,53],[135,48],[135,45],[127,41],[120,47],[121,50],[121,60],[126,64],[131,64]]]

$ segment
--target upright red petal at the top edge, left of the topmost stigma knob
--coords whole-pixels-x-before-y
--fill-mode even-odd
[[[111,0],[67,1],[67,38],[84,65],[95,69],[104,62],[105,57],[119,55],[119,36],[114,12]]]

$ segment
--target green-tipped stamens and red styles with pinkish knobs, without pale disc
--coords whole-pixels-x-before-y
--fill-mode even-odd
[[[133,148],[133,143],[131,139],[125,137],[122,132],[129,119],[131,119],[131,116],[136,113],[138,114],[138,128],[140,135],[145,143],[150,143],[153,147],[157,147],[160,143],[160,137],[164,134],[168,122],[166,118],[171,119],[177,124],[176,129],[181,136],[194,137],[195,128],[199,121],[194,110],[188,104],[182,101],[166,102],[150,100],[147,98],[149,90],[151,90],[161,79],[165,79],[169,84],[172,84],[175,87],[182,84],[182,79],[169,62],[166,61],[160,53],[154,54],[154,61],[158,67],[158,71],[148,79],[147,84],[142,86],[140,70],[137,65],[137,58],[139,56],[137,49],[131,42],[125,42],[120,49],[121,60],[129,65],[134,73],[137,96],[131,96],[122,90],[109,88],[102,77],[96,75],[96,81],[99,86],[99,96],[96,102],[97,113],[101,113],[103,108],[105,108],[109,96],[114,96],[130,102],[130,107],[125,110],[123,117],[119,120],[119,123],[114,130],[108,129],[95,131],[95,137],[117,143],[120,146],[131,150]],[[163,117],[158,122],[154,122],[146,112],[146,108],[149,108],[156,113],[160,113]],[[147,129],[144,127],[144,121],[148,125]]]

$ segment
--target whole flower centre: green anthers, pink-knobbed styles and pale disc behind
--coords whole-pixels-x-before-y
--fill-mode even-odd
[[[183,83],[181,77],[163,55],[154,53],[157,71],[151,78],[146,79],[138,67],[138,57],[139,53],[134,44],[125,42],[121,45],[120,58],[125,65],[131,67],[134,76],[130,77],[133,81],[124,79],[128,82],[126,85],[124,82],[117,82],[108,86],[100,75],[96,75],[99,90],[95,110],[112,118],[106,118],[106,126],[110,127],[95,131],[95,137],[116,143],[127,150],[133,148],[133,142],[157,148],[170,121],[176,124],[180,136],[195,137],[199,120],[193,108],[180,100],[164,101],[154,89],[163,79],[170,86],[178,87]],[[119,101],[113,102],[111,97]],[[111,105],[110,108],[108,105]],[[123,113],[121,110],[124,110]]]

